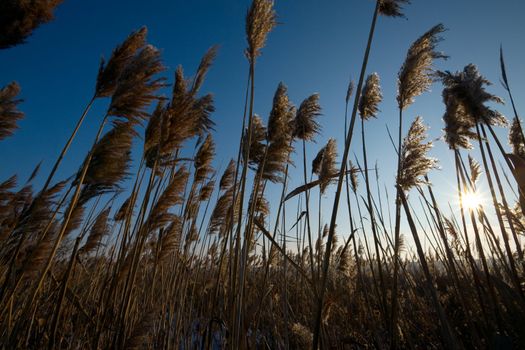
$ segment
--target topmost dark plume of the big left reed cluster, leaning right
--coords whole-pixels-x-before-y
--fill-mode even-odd
[[[107,64],[104,58],[101,59],[95,87],[96,97],[109,97],[115,92],[122,73],[137,51],[146,45],[146,35],[146,27],[140,28],[113,49]]]

